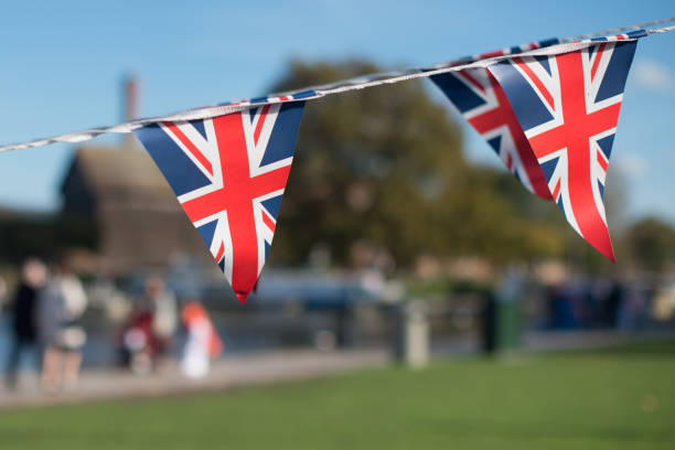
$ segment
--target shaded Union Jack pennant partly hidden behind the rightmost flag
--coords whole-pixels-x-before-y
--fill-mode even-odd
[[[485,68],[431,76],[471,126],[488,141],[504,165],[529,191],[550,200],[542,169],[506,95]]]

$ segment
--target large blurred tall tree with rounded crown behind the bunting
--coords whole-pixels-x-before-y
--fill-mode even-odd
[[[333,82],[378,67],[292,63],[274,90]],[[398,262],[442,245],[433,203],[462,176],[461,133],[420,83],[310,101],[280,212],[275,259],[299,262],[317,243],[349,262],[355,243]]]

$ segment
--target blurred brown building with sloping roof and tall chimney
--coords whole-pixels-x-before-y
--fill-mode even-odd
[[[126,83],[125,119],[136,117],[136,83]],[[97,228],[95,270],[121,275],[165,266],[172,255],[208,257],[149,154],[127,136],[118,147],[83,146],[63,180],[63,214]]]

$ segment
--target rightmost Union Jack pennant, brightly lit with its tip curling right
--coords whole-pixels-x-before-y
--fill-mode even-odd
[[[513,57],[490,67],[569,224],[614,260],[604,181],[635,41],[601,42],[551,56]]]

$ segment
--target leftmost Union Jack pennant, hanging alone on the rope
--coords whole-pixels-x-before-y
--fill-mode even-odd
[[[302,101],[136,130],[242,303],[269,251]]]

